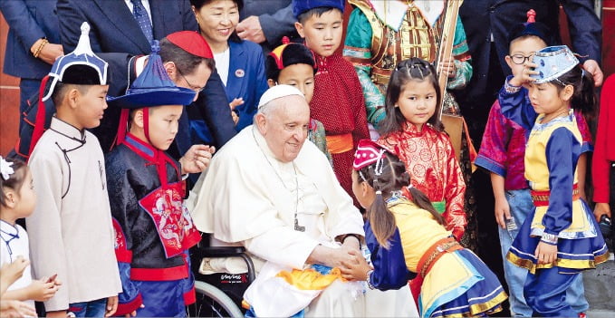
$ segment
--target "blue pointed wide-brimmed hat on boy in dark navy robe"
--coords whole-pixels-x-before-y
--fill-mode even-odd
[[[168,77],[159,55],[160,43],[154,40],[151,45],[149,61],[143,71],[132,82],[126,94],[108,97],[111,106],[122,109],[139,109],[162,105],[189,105],[197,92],[178,87]]]

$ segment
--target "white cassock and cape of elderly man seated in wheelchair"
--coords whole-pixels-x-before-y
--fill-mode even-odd
[[[241,243],[255,256],[260,273],[245,298],[259,316],[288,316],[297,312],[289,309],[290,301],[276,305],[282,299],[269,293],[276,288],[272,287],[271,279],[280,270],[305,268],[314,247],[334,247],[338,245],[336,236],[364,236],[360,212],[341,188],[322,152],[308,141],[293,162],[284,163],[275,159],[254,126],[246,127],[216,153],[188,201],[188,208],[194,203],[190,211],[200,231],[213,233],[217,240],[226,243]],[[303,232],[295,230],[295,219],[298,226],[305,227]],[[261,260],[265,262],[263,266]],[[390,306],[384,308],[382,303],[375,304],[383,310],[378,310],[377,315],[388,315],[394,310],[397,315],[408,316],[406,309],[414,306],[408,286],[401,291],[401,297],[399,291],[369,291],[368,295],[378,294],[380,297],[374,298],[381,301],[389,293],[397,294],[389,297],[391,301],[405,298],[408,303],[401,302],[405,303],[401,311],[399,302],[385,302]],[[282,294],[295,301],[292,293]],[[301,303],[301,295],[294,296]],[[267,308],[253,304],[262,301]],[[305,315],[365,316],[374,313],[375,308],[369,304],[374,302],[366,304],[364,295],[357,293],[357,283],[338,280],[306,304]]]

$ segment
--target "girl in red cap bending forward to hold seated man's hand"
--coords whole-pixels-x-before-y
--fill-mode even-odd
[[[398,157],[361,140],[353,169],[352,191],[367,209],[365,242],[373,268],[357,256],[356,263],[342,266],[344,278],[389,290],[420,275],[421,317],[481,316],[502,310],[506,294],[497,277],[451,236],[429,199],[411,185]]]

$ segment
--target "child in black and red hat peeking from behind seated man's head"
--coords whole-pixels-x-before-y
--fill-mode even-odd
[[[264,62],[267,84],[269,87],[278,84],[294,86],[303,92],[305,101],[309,104],[314,96],[314,75],[317,70],[314,54],[302,43],[290,43],[286,36],[283,37],[282,43],[267,55]],[[322,122],[310,118],[308,140],[321,149],[333,165],[325,137]]]

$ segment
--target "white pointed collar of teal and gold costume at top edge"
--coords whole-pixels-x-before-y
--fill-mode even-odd
[[[376,16],[380,19],[380,22],[389,26],[389,28],[393,29],[393,31],[398,32],[401,24],[404,22],[404,18],[406,18],[408,9],[412,6],[416,6],[418,8],[418,11],[429,25],[435,25],[437,18],[444,10],[444,1],[371,0],[370,6],[373,8]]]

